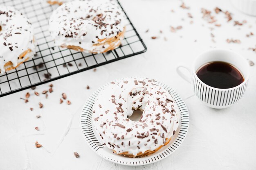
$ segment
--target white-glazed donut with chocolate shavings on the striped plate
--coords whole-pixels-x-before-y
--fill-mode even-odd
[[[119,155],[144,157],[168,144],[179,126],[180,112],[170,93],[156,81],[125,78],[110,83],[93,105],[94,128]],[[128,119],[143,111],[138,122]]]

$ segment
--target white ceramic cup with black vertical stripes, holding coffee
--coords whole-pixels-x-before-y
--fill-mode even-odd
[[[196,72],[202,65],[213,62],[223,61],[234,65],[244,76],[244,81],[240,85],[229,89],[218,89],[203,83]],[[185,68],[190,72],[190,76],[181,72],[180,68]],[[177,73],[187,82],[191,83],[195,95],[207,106],[222,109],[227,108],[238,102],[245,93],[249,79],[249,64],[242,56],[231,50],[214,49],[200,54],[195,59],[192,68],[179,65]]]

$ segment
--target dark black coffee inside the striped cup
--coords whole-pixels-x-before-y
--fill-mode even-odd
[[[202,65],[197,70],[196,75],[205,84],[219,89],[236,87],[245,81],[238,69],[222,61]]]

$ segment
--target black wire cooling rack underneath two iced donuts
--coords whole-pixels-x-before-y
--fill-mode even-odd
[[[15,70],[0,74],[0,97],[146,52],[144,42],[127,15],[124,40],[115,50],[103,54],[88,54],[54,46],[48,31],[48,20],[58,5],[51,6],[46,1],[0,1],[0,5],[13,6],[29,18],[38,44],[33,59]],[[121,7],[119,2],[118,4]]]

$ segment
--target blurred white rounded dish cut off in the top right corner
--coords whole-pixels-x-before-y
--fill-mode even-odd
[[[256,16],[256,0],[230,0],[239,11]]]

